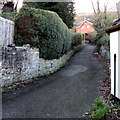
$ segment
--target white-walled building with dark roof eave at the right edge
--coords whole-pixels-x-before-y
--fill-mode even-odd
[[[106,32],[110,34],[111,94],[120,101],[120,19]]]

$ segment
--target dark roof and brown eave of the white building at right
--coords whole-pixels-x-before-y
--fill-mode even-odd
[[[120,30],[120,18],[116,20],[111,27],[109,27],[106,32],[111,33]]]

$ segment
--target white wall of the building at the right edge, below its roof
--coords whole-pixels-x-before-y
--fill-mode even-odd
[[[110,34],[111,94],[114,95],[114,54],[116,54],[116,97],[120,98],[120,31]]]

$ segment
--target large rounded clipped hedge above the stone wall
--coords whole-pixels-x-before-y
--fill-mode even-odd
[[[23,7],[16,17],[15,44],[38,47],[44,59],[62,56],[71,43],[68,27],[55,12]]]

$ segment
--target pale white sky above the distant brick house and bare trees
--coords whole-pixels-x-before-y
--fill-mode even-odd
[[[76,13],[93,13],[92,2],[96,6],[97,0],[74,0]],[[101,9],[104,8],[104,3],[108,3],[108,10],[116,10],[116,3],[120,0],[99,0]]]

